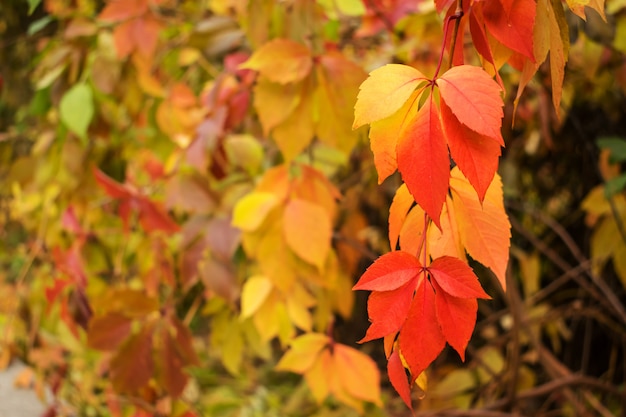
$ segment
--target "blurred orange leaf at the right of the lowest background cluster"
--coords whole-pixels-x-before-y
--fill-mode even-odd
[[[368,355],[349,346],[334,345],[335,372],[341,386],[351,396],[382,406],[380,372]]]

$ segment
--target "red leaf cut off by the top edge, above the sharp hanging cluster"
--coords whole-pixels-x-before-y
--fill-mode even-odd
[[[534,0],[489,0],[483,3],[485,26],[503,45],[535,62],[533,28],[536,4]]]

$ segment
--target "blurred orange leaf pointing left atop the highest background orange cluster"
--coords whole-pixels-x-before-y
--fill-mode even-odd
[[[256,70],[272,82],[288,84],[304,79],[312,66],[309,48],[288,39],[274,39],[259,48],[239,68]]]

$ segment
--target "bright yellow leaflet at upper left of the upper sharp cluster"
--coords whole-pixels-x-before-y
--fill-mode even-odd
[[[363,126],[391,116],[411,97],[417,86],[428,79],[407,65],[387,64],[370,73],[361,84],[354,106],[354,124]]]

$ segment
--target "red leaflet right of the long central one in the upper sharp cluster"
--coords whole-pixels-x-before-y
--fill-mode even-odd
[[[441,117],[452,159],[483,201],[498,169],[500,145],[459,122],[443,101]]]

